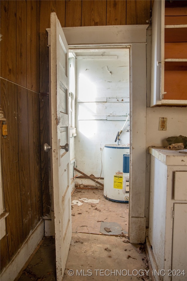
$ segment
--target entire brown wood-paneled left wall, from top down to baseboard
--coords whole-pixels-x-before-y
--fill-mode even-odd
[[[42,218],[39,1],[1,1],[1,165],[6,235],[1,270]],[[1,121],[2,127],[2,121]]]

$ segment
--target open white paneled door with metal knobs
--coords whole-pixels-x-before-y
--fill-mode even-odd
[[[69,252],[71,229],[68,45],[56,13],[51,13],[52,191],[55,220],[56,274],[61,281]]]

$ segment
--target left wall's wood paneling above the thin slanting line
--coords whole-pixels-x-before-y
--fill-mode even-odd
[[[1,1],[1,77],[39,92],[39,1]]]

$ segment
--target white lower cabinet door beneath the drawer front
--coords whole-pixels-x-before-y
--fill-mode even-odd
[[[185,272],[185,275],[181,274]],[[187,204],[174,203],[172,281],[187,278]]]

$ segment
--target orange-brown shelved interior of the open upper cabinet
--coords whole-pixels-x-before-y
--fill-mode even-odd
[[[163,98],[187,100],[187,7],[165,7],[164,32]]]

